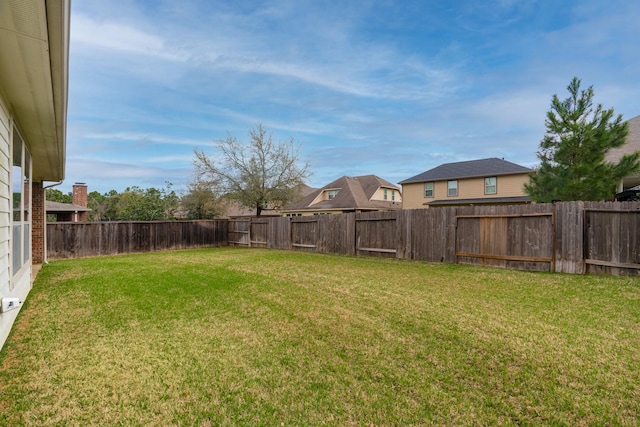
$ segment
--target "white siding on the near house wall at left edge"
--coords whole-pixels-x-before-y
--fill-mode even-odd
[[[25,263],[17,275],[11,278],[11,220],[12,203],[10,187],[11,171],[11,121],[0,97],[0,298],[20,298],[24,301],[31,289],[31,261]],[[4,345],[19,309],[0,313],[0,348]]]

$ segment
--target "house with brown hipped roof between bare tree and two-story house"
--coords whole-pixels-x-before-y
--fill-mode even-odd
[[[400,209],[402,191],[375,175],[343,176],[282,210],[283,216]]]

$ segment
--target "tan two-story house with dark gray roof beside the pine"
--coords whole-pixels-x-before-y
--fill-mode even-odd
[[[400,182],[403,209],[446,205],[529,203],[533,169],[498,158],[445,163]]]

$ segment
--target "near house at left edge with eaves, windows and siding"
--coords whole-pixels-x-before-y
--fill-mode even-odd
[[[0,347],[45,251],[45,181],[64,178],[69,0],[0,1]]]

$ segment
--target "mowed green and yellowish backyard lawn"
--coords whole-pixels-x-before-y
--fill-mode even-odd
[[[44,266],[2,425],[637,425],[640,281],[220,248]]]

